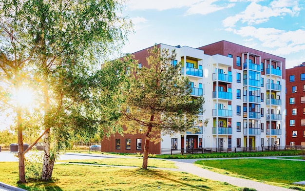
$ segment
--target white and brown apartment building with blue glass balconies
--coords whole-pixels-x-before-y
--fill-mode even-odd
[[[199,122],[194,124],[196,133],[160,135],[159,144],[150,144],[150,153],[160,154],[165,149],[286,145],[282,88],[286,84],[282,72],[285,58],[227,41],[199,48],[157,46],[175,49],[176,59],[172,62],[182,63],[181,73],[191,81],[191,95],[204,96],[205,112],[198,115]],[[133,55],[139,65],[147,66],[147,49]],[[203,126],[205,120],[209,120],[207,126]],[[142,140],[145,141],[142,134],[115,135],[102,141],[102,151],[142,152],[138,144]]]

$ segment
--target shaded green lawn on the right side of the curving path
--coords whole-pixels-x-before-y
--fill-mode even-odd
[[[215,170],[221,169],[222,173],[244,178],[255,179],[266,183],[286,184],[284,186],[296,186],[293,182],[305,180],[305,162],[274,160],[274,159],[234,159],[234,160],[202,160],[196,164],[203,168]],[[210,168],[212,167],[212,168]],[[217,171],[217,170],[216,170]],[[220,172],[220,171],[218,171]],[[277,185],[277,184],[275,184]],[[290,186],[289,186],[290,185]],[[301,186],[305,190],[305,186]]]

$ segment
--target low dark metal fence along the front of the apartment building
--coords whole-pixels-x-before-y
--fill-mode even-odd
[[[269,152],[282,150],[304,150],[305,146],[267,146],[267,147],[234,147],[234,148],[197,148],[197,149],[161,149],[161,154],[203,154],[230,152]],[[303,158],[305,155],[303,156]]]

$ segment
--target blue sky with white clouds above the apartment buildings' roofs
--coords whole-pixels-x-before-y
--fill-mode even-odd
[[[124,53],[155,43],[198,48],[222,40],[305,62],[304,0],[129,0],[133,22]]]

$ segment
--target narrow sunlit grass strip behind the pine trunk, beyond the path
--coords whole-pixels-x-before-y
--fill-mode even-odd
[[[87,160],[65,160],[58,162],[69,163],[84,163],[95,165],[117,165],[117,166],[131,166],[142,167],[143,158],[109,158],[109,159],[87,159]],[[156,168],[177,168],[172,161],[162,159],[148,159],[148,167]]]

